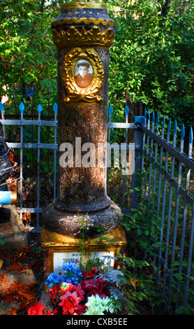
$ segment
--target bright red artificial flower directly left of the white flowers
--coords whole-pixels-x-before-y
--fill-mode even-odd
[[[81,298],[77,296],[77,292],[73,291],[71,293],[70,291],[67,291],[65,295],[62,295],[60,297],[61,302],[59,305],[63,307],[63,314],[74,314],[77,310],[77,304],[79,304]]]

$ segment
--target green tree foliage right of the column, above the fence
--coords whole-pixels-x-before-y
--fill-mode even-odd
[[[105,2],[117,22],[110,50],[110,102],[117,94],[123,108],[128,88],[151,110],[193,122],[193,3],[171,1],[164,18],[156,1]]]

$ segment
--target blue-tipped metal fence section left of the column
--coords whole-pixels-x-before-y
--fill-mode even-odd
[[[51,160],[54,163],[54,175],[53,175],[53,198],[56,197],[56,179],[57,179],[57,104],[54,104],[53,111],[54,111],[54,120],[42,120],[41,119],[41,111],[42,106],[38,106],[38,120],[26,120],[24,119],[24,104],[21,102],[20,106],[20,120],[14,120],[14,119],[8,119],[6,120],[4,118],[4,106],[0,102],[0,111],[1,111],[1,120],[4,129],[6,126],[17,126],[19,127],[20,132],[20,141],[13,142],[13,141],[6,141],[8,148],[10,149],[19,149],[20,150],[20,165],[19,165],[19,177],[18,181],[19,183],[19,207],[17,207],[17,212],[20,213],[20,216],[22,218],[22,214],[29,212],[30,214],[37,214],[37,221],[36,221],[36,228],[40,229],[40,223],[39,223],[39,215],[43,212],[42,207],[40,207],[40,150],[43,149],[49,149],[53,150],[53,160]],[[37,127],[36,130],[36,136],[33,130],[29,130],[29,127]],[[54,141],[53,143],[41,143],[40,139],[40,130],[41,127],[53,127],[54,128]],[[28,128],[28,134],[27,139],[28,141],[25,141],[25,134],[24,134],[24,128]],[[33,136],[32,136],[33,132]],[[30,136],[31,135],[31,136]],[[14,134],[12,135],[14,139]],[[36,143],[29,142],[29,139],[36,140]],[[24,150],[36,150],[36,207],[23,207],[23,183],[24,179],[27,179],[27,177],[24,177],[24,167],[26,164],[24,164]],[[29,167],[33,167],[33,164],[31,163]],[[26,170],[27,172],[27,170]],[[11,181],[10,181],[11,183]]]

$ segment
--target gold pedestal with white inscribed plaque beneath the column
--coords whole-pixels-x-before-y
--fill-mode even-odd
[[[124,230],[114,230],[100,237],[91,237],[84,240],[84,252],[82,253],[82,241],[75,237],[58,235],[57,233],[42,231],[42,247],[44,250],[44,275],[61,272],[61,265],[75,262],[77,265],[86,263],[87,260],[103,258],[105,265],[117,269],[118,261],[115,259],[118,253],[124,253],[126,247],[126,235]]]

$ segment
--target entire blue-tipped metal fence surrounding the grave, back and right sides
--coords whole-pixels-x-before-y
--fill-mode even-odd
[[[17,211],[21,216],[29,211],[37,214],[36,229],[40,229],[39,215],[43,212],[40,207],[40,150],[53,151],[53,198],[57,190],[57,104],[54,104],[53,120],[42,120],[42,107],[38,106],[38,120],[27,120],[23,116],[24,105],[20,104],[20,120],[6,120],[1,107],[0,122],[6,125],[20,127],[20,142],[8,141],[10,148],[20,151],[20,207]],[[131,123],[131,114],[128,106],[124,109],[124,122],[113,123],[112,106],[108,109],[107,141],[111,143],[113,130],[124,130],[124,142],[135,143],[135,172],[130,175],[121,175],[114,169],[107,169],[107,192],[121,207],[123,214],[131,213],[131,209],[137,207],[140,202],[147,201],[151,205],[145,209],[147,219],[151,223],[150,238],[154,239],[155,255],[153,264],[156,266],[158,285],[169,311],[172,307],[180,305],[187,307],[193,288],[193,234],[194,234],[194,203],[193,203],[193,132],[190,130],[188,141],[185,139],[184,125],[181,131],[175,121],[173,130],[171,120],[165,126],[165,116],[159,120],[152,113],[144,113],[144,116],[135,116]],[[150,118],[152,116],[152,118]],[[131,118],[130,118],[131,119]],[[130,122],[129,122],[130,121]],[[37,127],[37,142],[30,143],[24,140],[24,127]],[[41,143],[41,127],[54,127],[54,140],[51,143]],[[129,130],[133,131],[133,141],[128,140]],[[170,139],[171,137],[171,139]],[[177,142],[178,140],[178,142]],[[114,142],[114,141],[112,141]],[[23,207],[22,184],[24,182],[24,150],[37,151],[37,200],[36,207]],[[185,151],[186,150],[186,151]],[[138,174],[143,174],[143,179],[138,181]],[[46,176],[46,174],[45,174]],[[142,191],[140,196],[137,187]],[[127,193],[134,189],[134,193]],[[113,193],[113,194],[112,194]],[[150,211],[150,212],[149,212]],[[153,217],[152,214],[156,216]],[[145,216],[146,218],[146,216]],[[154,221],[156,218],[156,221]],[[153,230],[155,228],[156,230]]]

